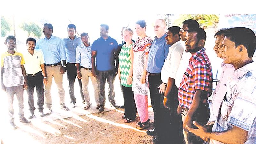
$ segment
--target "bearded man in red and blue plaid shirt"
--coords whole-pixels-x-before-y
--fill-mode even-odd
[[[192,57],[183,75],[179,88],[178,112],[183,121],[183,134],[187,143],[203,143],[204,141],[189,132],[186,128],[195,127],[192,121],[207,124],[210,117],[210,109],[207,97],[212,92],[212,66],[205,53],[206,33],[204,29],[190,29],[186,34],[186,52]]]

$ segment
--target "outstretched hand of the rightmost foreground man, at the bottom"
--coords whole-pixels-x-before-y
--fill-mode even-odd
[[[204,141],[209,141],[209,132],[207,132],[207,128],[198,124],[196,121],[193,121],[193,124],[198,127],[198,129],[193,129],[191,127],[189,127],[188,125],[186,125],[186,129],[189,132],[194,133],[195,135],[199,136],[200,138],[202,138]]]

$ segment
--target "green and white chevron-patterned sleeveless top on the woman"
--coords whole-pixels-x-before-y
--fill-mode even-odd
[[[130,60],[130,50],[132,48],[132,44],[125,47],[125,44],[122,46],[121,51],[119,53],[119,69],[121,73],[121,85],[125,87],[132,87],[132,84],[127,84],[127,78],[129,77],[129,71],[131,68],[131,60]]]

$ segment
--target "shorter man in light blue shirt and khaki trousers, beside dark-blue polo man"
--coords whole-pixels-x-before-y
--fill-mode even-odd
[[[88,33],[81,34],[82,44],[76,48],[76,67],[77,77],[82,80],[82,88],[85,100],[84,109],[88,109],[91,106],[90,96],[88,92],[89,77],[91,78],[94,88],[94,99],[96,101],[96,108],[100,106],[99,103],[99,90],[96,77],[92,75],[92,50],[89,42]]]

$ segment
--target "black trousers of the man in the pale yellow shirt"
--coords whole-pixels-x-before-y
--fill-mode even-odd
[[[38,73],[36,76],[27,76],[28,79],[28,105],[30,113],[33,114],[35,111],[34,105],[34,88],[36,87],[37,93],[37,106],[39,112],[43,112],[43,105],[44,105],[44,84],[43,84],[43,75],[42,73]]]

